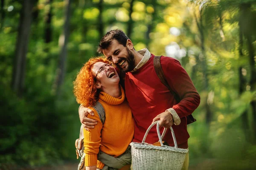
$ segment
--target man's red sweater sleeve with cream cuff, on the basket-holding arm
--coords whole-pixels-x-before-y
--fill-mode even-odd
[[[179,103],[167,109],[173,115],[175,125],[178,125],[180,118],[195,111],[200,104],[200,96],[189,75],[177,59],[161,57],[161,65],[169,86],[181,99]]]

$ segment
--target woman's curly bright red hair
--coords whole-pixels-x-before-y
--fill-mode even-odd
[[[107,59],[102,57],[91,58],[84,64],[77,74],[76,80],[73,82],[73,92],[76,96],[76,101],[86,107],[94,105],[99,99],[99,89],[96,88],[92,72],[93,65],[96,62],[105,62],[110,64]]]

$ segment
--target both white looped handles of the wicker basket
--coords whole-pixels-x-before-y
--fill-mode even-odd
[[[145,133],[145,135],[144,135],[144,137],[143,137],[143,140],[142,140],[142,142],[141,142],[142,144],[145,144],[145,140],[146,140],[146,138],[147,138],[147,136],[148,136],[149,130],[150,130],[155,124],[157,124],[157,135],[158,135],[158,138],[159,138],[159,142],[160,142],[160,144],[161,144],[162,147],[164,146],[164,145],[163,145],[163,136],[165,135],[167,128],[164,128],[163,133],[162,133],[162,136],[161,136],[161,135],[160,135],[160,129],[159,129],[159,126],[160,126],[159,123],[160,123],[160,121],[158,120],[158,121],[152,123],[152,124],[148,127],[148,130],[146,131],[146,133]],[[170,127],[170,129],[171,129],[171,132],[172,132],[172,139],[173,139],[173,142],[174,142],[174,147],[177,148],[178,145],[177,145],[176,137],[175,137],[174,131],[173,131],[173,129],[172,129],[172,126]]]

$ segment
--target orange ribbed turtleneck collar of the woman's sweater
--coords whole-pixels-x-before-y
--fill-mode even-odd
[[[124,89],[122,88],[121,85],[119,85],[119,87],[121,88],[121,96],[119,96],[118,98],[113,97],[113,96],[111,96],[109,94],[106,94],[104,92],[100,92],[99,93],[99,99],[108,103],[109,105],[119,105],[119,104],[121,104],[125,100],[125,91],[124,91]]]

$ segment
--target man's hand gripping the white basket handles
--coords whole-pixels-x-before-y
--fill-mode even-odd
[[[169,128],[173,125],[173,117],[172,114],[169,111],[160,113],[159,115],[157,115],[154,119],[153,122],[160,120],[159,125],[160,127],[166,127]]]

